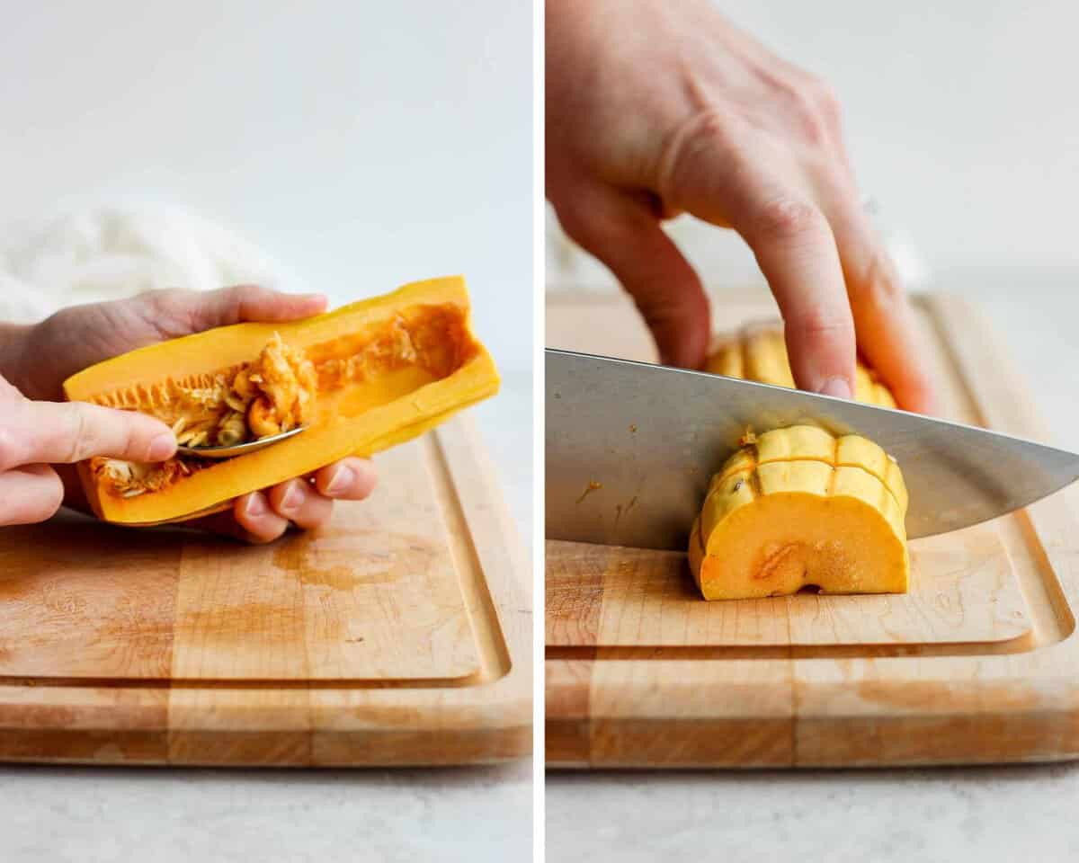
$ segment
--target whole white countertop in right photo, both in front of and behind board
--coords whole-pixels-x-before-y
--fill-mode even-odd
[[[1079,450],[1079,272],[938,279],[988,313],[1056,443]],[[1056,861],[1079,849],[1079,763],[547,776],[547,859]]]

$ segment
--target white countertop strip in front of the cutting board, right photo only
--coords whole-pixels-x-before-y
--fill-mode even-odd
[[[547,859],[1064,861],[1077,794],[1071,765],[548,773]]]

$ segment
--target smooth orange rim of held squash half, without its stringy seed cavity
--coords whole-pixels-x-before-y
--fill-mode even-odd
[[[274,332],[286,343],[311,348],[358,332],[381,332],[400,314],[423,313],[427,307],[460,316],[464,335],[460,362],[454,361],[445,376],[407,366],[383,379],[347,383],[303,434],[214,463],[153,493],[129,498],[112,494],[98,484],[84,462],[79,465],[79,475],[94,511],[106,521],[133,525],[185,521],[220,511],[240,495],[349,455],[368,456],[410,440],[494,395],[500,380],[493,359],[473,331],[468,293],[460,276],[412,283],[306,320],[219,327],[141,347],[72,375],[64,383],[69,400],[100,402],[117,391],[150,387],[163,379],[213,373],[250,361]]]

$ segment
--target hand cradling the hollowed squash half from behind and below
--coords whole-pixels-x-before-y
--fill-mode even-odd
[[[318,314],[325,307],[324,297],[278,293],[255,286],[210,292],[151,291],[129,300],[57,312],[36,327],[22,331],[15,338],[21,348],[9,351],[6,366],[0,368],[8,370],[13,383],[29,398],[59,399],[66,378],[117,354],[243,320],[295,320]],[[139,416],[129,411],[95,410],[119,415],[125,421]],[[111,454],[135,461],[159,461],[172,455],[176,442],[168,427],[149,417],[142,420],[154,423],[156,432],[163,428],[168,433],[168,453],[156,458],[147,458],[146,449],[138,451],[138,457]],[[79,458],[92,454],[110,453],[80,454]],[[333,499],[361,501],[371,493],[374,482],[374,467],[369,461],[344,458],[316,470],[311,477],[238,497],[231,512],[191,523],[248,542],[269,543],[281,536],[289,522],[304,529],[317,528],[329,519]],[[68,484],[69,489],[73,487],[73,483]],[[77,503],[70,494],[68,501]]]

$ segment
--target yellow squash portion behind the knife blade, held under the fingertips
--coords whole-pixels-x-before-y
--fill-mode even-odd
[[[770,324],[751,325],[720,339],[709,354],[705,371],[794,388],[783,331]],[[861,361],[855,370],[855,399],[882,408],[896,407],[891,391]]]

